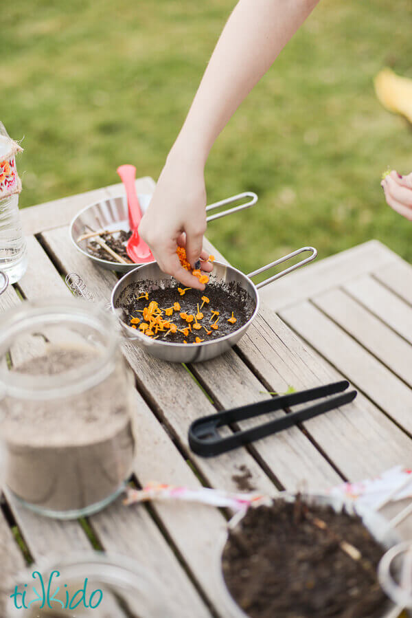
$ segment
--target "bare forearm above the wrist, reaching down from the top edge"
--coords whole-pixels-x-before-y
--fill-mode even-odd
[[[319,0],[240,0],[172,152],[207,159],[216,137]]]

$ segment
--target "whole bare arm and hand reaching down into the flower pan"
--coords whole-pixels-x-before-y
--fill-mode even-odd
[[[201,254],[206,230],[204,168],[211,146],[318,2],[240,0],[225,25],[139,227],[163,272],[185,285],[203,289],[181,267],[175,252],[185,232],[190,263]]]

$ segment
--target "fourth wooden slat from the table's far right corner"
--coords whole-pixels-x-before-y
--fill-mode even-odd
[[[309,302],[285,309],[282,318],[387,415],[412,432],[412,390],[404,382]]]

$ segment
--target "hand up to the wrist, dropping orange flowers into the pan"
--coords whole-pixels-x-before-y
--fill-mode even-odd
[[[182,170],[185,170],[184,176]],[[185,246],[192,267],[210,272],[209,254],[203,251],[206,231],[206,190],[203,165],[169,155],[157,182],[150,206],[141,219],[139,234],[148,243],[161,270],[187,287],[205,289],[198,278],[185,270],[176,247]]]

